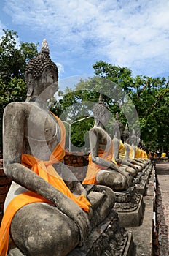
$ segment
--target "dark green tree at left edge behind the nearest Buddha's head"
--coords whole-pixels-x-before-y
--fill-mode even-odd
[[[16,31],[3,31],[0,39],[0,151],[4,108],[10,102],[25,101],[25,66],[37,53],[37,45],[19,42]]]

